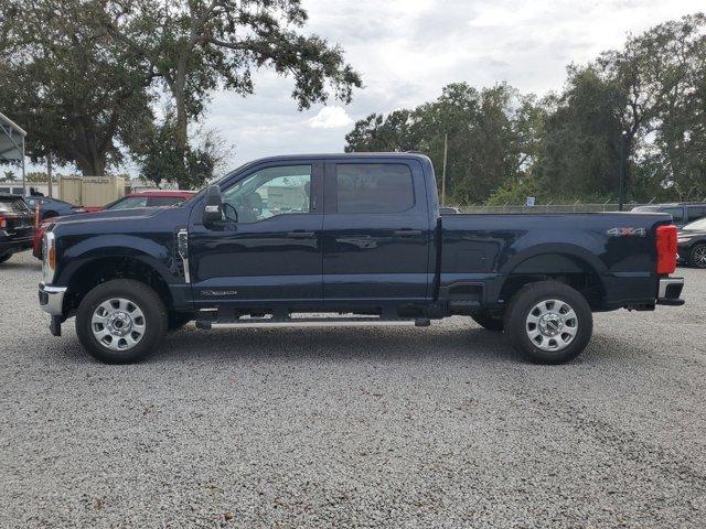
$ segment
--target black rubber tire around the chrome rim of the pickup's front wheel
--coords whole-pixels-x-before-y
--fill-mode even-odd
[[[110,348],[109,345],[98,341],[94,334],[94,324],[92,323],[94,313],[103,303],[111,299],[129,301],[138,307],[142,315],[141,319],[143,319],[145,331],[139,341],[124,350]],[[136,323],[138,323],[137,320]],[[146,358],[157,348],[165,332],[167,309],[164,309],[164,303],[150,287],[131,279],[116,279],[99,284],[84,296],[76,312],[76,334],[81,344],[90,356],[106,364],[130,364]],[[109,338],[113,343],[115,336]],[[116,346],[119,346],[121,339],[118,338]]]

